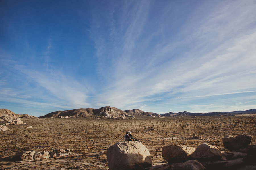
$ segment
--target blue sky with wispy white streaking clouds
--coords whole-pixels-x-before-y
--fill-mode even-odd
[[[0,1],[0,108],[256,108],[256,1]]]

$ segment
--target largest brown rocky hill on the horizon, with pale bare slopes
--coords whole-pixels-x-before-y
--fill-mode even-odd
[[[100,109],[73,109],[65,111],[56,111],[46,114],[45,116],[40,116],[40,118],[93,118],[93,117],[108,117],[108,118],[125,118],[134,117],[133,115],[127,114],[126,112],[117,109],[115,107],[105,106]]]

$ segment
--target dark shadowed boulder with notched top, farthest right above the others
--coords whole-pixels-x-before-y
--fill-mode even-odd
[[[237,151],[241,148],[246,148],[252,140],[252,136],[250,135],[238,135],[236,137],[233,136],[225,136],[222,138],[224,148]]]

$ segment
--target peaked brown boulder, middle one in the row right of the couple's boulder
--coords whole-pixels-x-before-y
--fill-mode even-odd
[[[221,158],[221,152],[216,146],[202,143],[196,150],[191,154],[192,158],[195,159],[211,159],[218,160]]]

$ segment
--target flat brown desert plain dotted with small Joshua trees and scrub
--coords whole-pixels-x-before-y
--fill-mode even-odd
[[[0,169],[109,169],[107,149],[124,141],[126,131],[131,131],[134,138],[141,139],[150,152],[153,165],[167,163],[161,154],[163,146],[197,148],[207,143],[224,153],[229,152],[222,143],[225,135],[251,135],[253,139],[250,145],[256,144],[255,115],[21,120],[26,124],[5,125],[9,130],[0,131]],[[56,149],[59,149],[57,155],[49,159],[11,159],[22,151],[48,151],[51,154]]]

